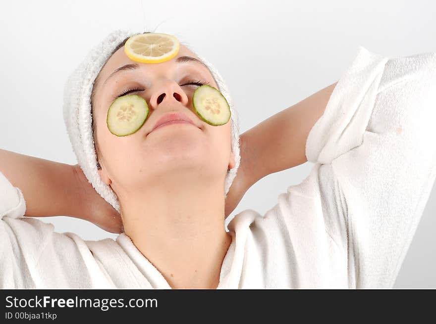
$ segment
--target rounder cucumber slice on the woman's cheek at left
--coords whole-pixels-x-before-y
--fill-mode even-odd
[[[137,94],[125,95],[112,102],[106,123],[113,135],[126,136],[141,128],[148,113],[148,104],[143,97]]]

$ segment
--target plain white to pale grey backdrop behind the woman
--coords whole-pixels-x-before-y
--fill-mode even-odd
[[[436,51],[435,9],[431,0],[1,1],[0,148],[77,163],[62,119],[63,86],[114,29],[174,34],[206,57],[228,84],[242,134],[336,82],[359,45],[388,56]],[[231,215],[264,214],[312,166],[262,179]],[[435,211],[434,187],[394,287],[436,288]],[[78,219],[41,220],[84,239],[116,237]]]

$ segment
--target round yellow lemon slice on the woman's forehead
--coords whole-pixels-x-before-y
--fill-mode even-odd
[[[161,63],[177,55],[179,48],[178,39],[172,35],[146,33],[130,37],[124,45],[124,52],[136,62]]]

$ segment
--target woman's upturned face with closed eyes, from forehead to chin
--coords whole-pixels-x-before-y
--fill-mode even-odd
[[[99,73],[93,100],[102,167],[99,173],[118,198],[137,192],[144,185],[156,185],[163,179],[186,181],[187,176],[193,184],[202,179],[223,185],[227,170],[235,165],[230,120],[222,126],[204,122],[192,105],[198,86],[187,84],[200,80],[217,89],[218,85],[206,66],[186,56],[198,58],[180,45],[177,55],[168,61],[139,63],[127,57],[121,47]],[[127,64],[127,68],[114,72]],[[107,113],[115,96],[129,89],[138,90],[127,94],[146,99],[149,115],[136,133],[117,137],[109,132]],[[168,112],[182,112],[195,125],[172,124],[151,132]]]

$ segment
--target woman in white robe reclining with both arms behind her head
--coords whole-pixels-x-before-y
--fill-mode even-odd
[[[101,44],[113,52],[91,80],[93,95],[82,98],[92,104],[86,132],[94,127],[98,177],[78,153],[86,142],[70,131],[80,167],[0,152],[2,288],[392,287],[436,177],[435,53],[387,58],[360,47],[337,84],[242,134],[238,167],[234,123],[210,126],[192,107],[192,79],[218,89],[210,65],[181,64],[205,61],[181,46],[171,60],[112,75],[134,63],[118,42],[132,34],[114,35]],[[133,88],[151,115],[118,138],[107,109]],[[194,125],[153,130],[170,111]],[[74,120],[65,121],[71,130]],[[301,184],[265,215],[236,215],[225,231],[251,185],[307,160],[316,164]],[[113,190],[119,217],[97,182]],[[122,232],[84,241],[20,218],[53,215]]]

